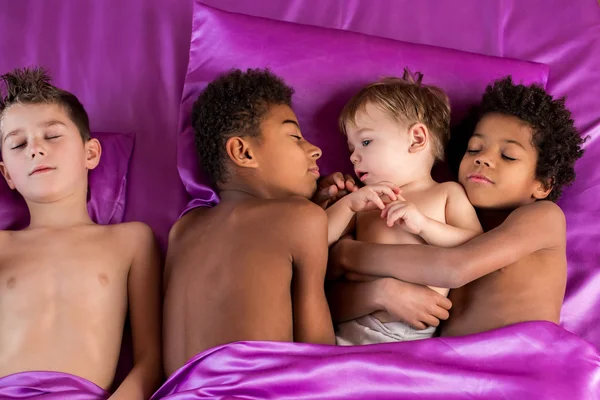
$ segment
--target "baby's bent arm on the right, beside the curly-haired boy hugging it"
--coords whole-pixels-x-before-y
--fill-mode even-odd
[[[457,183],[443,184],[447,190],[446,222],[442,223],[423,215],[413,203],[404,199],[388,204],[381,213],[388,226],[402,225],[407,231],[419,235],[428,244],[454,247],[480,235],[483,230],[464,189]]]

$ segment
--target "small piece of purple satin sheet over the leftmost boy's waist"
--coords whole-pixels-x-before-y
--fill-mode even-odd
[[[108,396],[98,385],[60,372],[21,372],[0,378],[2,400],[106,400]]]

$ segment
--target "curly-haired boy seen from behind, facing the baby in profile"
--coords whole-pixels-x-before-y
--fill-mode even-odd
[[[165,372],[240,340],[335,343],[324,281],[327,216],[308,199],[321,150],[268,70],[212,81],[192,110],[201,165],[220,195],[169,235]]]

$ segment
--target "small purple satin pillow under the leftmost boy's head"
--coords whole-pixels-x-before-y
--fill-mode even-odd
[[[123,221],[127,170],[133,151],[133,133],[92,133],[102,145],[102,157],[89,173],[88,211],[98,224]],[[22,229],[29,224],[29,212],[18,192],[0,183],[0,229]]]

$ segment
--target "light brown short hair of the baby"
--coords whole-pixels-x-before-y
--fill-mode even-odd
[[[432,152],[444,160],[444,148],[450,139],[450,101],[436,87],[421,84],[423,74],[404,69],[402,78],[386,77],[361,89],[344,106],[339,118],[340,130],[356,123],[356,114],[371,103],[400,123],[424,124],[432,133]]]

